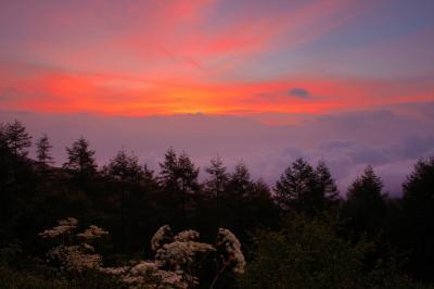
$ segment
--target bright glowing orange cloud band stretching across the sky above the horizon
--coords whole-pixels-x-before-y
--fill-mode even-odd
[[[35,68],[33,68],[35,70]],[[31,70],[30,70],[31,71]],[[0,76],[5,76],[2,71]],[[434,99],[434,85],[412,81],[357,78],[283,78],[252,83],[204,83],[146,79],[106,74],[41,70],[0,80],[0,87],[16,87],[14,98],[2,109],[43,112],[92,112],[116,115],[178,113],[258,114],[328,113],[401,102]],[[309,98],[290,95],[303,88]]]

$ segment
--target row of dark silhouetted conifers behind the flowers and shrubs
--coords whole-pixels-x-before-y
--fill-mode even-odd
[[[164,224],[177,230],[196,229],[208,240],[219,227],[229,228],[248,251],[255,247],[252,236],[260,235],[255,235],[258,229],[278,231],[288,219],[302,217],[309,224],[337,222],[333,234],[350,243],[372,241],[375,250],[362,260],[365,269],[393,259],[399,272],[411,278],[434,280],[433,158],[416,162],[403,184],[401,198],[384,192],[371,166],[342,198],[324,161],[311,165],[297,159],[270,187],[253,179],[243,163],[228,172],[218,156],[210,160],[206,178],[200,181],[200,168],[188,153],[173,148],[165,152],[157,173],[126,150],[99,167],[95,151],[82,137],[66,148],[67,161],[56,167],[49,137],[37,139],[36,160],[28,158],[31,140],[18,121],[0,126],[0,248],[20,244],[15,255],[40,256],[47,248],[37,234],[67,216],[111,231],[103,250],[113,262],[122,255],[146,255],[150,250],[143,240]],[[13,263],[10,255],[0,259]],[[255,256],[252,249],[252,260]]]

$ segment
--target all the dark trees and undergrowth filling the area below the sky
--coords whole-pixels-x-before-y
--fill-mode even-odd
[[[25,127],[1,125],[0,288],[433,288],[434,159],[416,163],[400,199],[370,166],[342,199],[322,161],[290,163],[269,188],[218,158],[200,183],[173,149],[155,174],[126,151],[98,167],[84,138],[54,167],[48,137],[36,144],[30,160]]]

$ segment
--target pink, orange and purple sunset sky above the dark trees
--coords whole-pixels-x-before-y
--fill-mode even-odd
[[[174,146],[270,184],[324,159],[392,193],[434,155],[434,2],[0,0],[0,122],[103,164]]]

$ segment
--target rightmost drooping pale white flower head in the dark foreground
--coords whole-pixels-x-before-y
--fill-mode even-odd
[[[245,260],[241,251],[241,243],[235,235],[228,229],[219,228],[216,247],[224,247],[228,254],[228,262],[233,262],[233,272],[238,274],[244,273]]]

